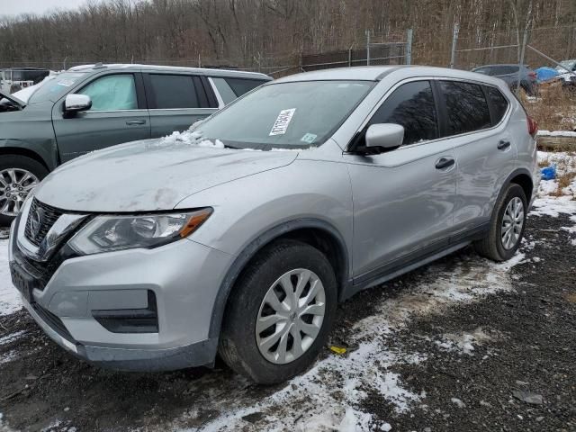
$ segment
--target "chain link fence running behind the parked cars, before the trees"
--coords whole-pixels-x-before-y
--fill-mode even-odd
[[[477,24],[475,24],[477,25]],[[320,70],[331,67],[356,67],[366,65],[412,64],[416,58],[420,64],[455,67],[470,70],[489,64],[518,64],[523,32],[512,28],[494,31],[490,25],[470,29],[459,29],[455,25],[453,35],[446,35],[441,44],[432,45],[425,35],[412,31],[374,32],[365,31],[347,49],[329,49],[322,52],[254,53],[246,58],[50,58],[10,60],[0,58],[0,68],[45,67],[62,70],[68,67],[96,62],[133,63],[180,67],[220,67],[262,72],[279,77],[302,71]],[[413,43],[412,43],[413,42]],[[333,44],[337,45],[337,44]],[[554,61],[576,58],[576,25],[529,29],[528,47],[525,49],[524,64],[536,68],[555,67]],[[550,59],[549,59],[550,58]],[[554,60],[554,61],[551,61]]]

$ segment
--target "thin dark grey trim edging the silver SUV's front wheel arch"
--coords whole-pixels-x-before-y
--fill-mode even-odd
[[[220,289],[216,295],[216,301],[214,302],[214,311],[212,311],[212,317],[210,322],[209,338],[219,338],[220,337],[220,327],[222,324],[222,319],[224,317],[224,311],[226,310],[226,305],[228,302],[229,294],[238,279],[238,275],[247,265],[247,263],[257,254],[257,252],[268,243],[273,241],[275,238],[280,238],[284,234],[292,232],[297,229],[322,229],[327,231],[333,238],[338,242],[340,252],[342,253],[342,263],[343,271],[341,275],[341,280],[338,281],[340,286],[340,293],[338,293],[338,298],[341,298],[342,293],[346,292],[348,284],[351,284],[349,280],[349,265],[350,261],[348,259],[348,250],[344,238],[340,235],[338,229],[334,228],[329,222],[320,219],[305,218],[298,220],[290,220],[284,222],[280,225],[275,226],[272,229],[267,230],[264,234],[261,234],[257,238],[254,238],[247,247],[240,252],[238,257],[234,260],[232,265],[229,267],[228,272],[224,276],[222,284],[220,284]]]

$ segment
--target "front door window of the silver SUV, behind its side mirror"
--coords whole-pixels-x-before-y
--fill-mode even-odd
[[[366,128],[375,123],[403,126],[402,145],[437,139],[436,103],[429,81],[413,81],[394,90],[374,113]]]

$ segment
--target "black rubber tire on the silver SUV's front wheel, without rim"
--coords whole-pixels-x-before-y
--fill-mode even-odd
[[[294,320],[291,313],[290,317],[292,318],[278,321],[277,324],[272,324],[267,329],[259,329],[261,333],[257,334],[258,319],[262,317],[266,320],[267,315],[263,316],[265,312],[272,313],[275,319],[279,316],[270,307],[270,304],[264,301],[266,294],[274,290],[274,296],[277,300],[288,302],[290,299],[287,296],[284,300],[278,299],[279,293],[280,295],[286,293],[281,288],[282,284],[279,278],[289,272],[300,272],[301,270],[311,272],[310,282],[304,286],[302,296],[299,297],[301,300],[306,297],[307,293],[311,295],[320,292],[321,286],[324,289],[324,315],[320,326],[316,324],[317,328],[320,327],[316,338],[311,340],[310,336],[302,333],[298,326],[304,325],[302,324],[303,320],[311,321],[314,324],[314,320],[320,320],[320,315],[313,315],[313,320],[311,320],[311,315],[302,315],[303,320],[300,318]],[[305,275],[305,272],[302,272],[302,275]],[[318,279],[314,279],[314,276],[317,276]],[[292,281],[294,285],[297,285],[296,281],[301,280],[299,277],[300,274],[290,275],[285,280]],[[302,280],[305,280],[305,276],[302,277]],[[318,283],[315,285],[319,287],[318,290],[311,290],[312,280],[320,280],[321,286]],[[294,291],[296,289],[294,288]],[[266,299],[268,298],[266,297]],[[282,383],[302,373],[314,362],[329,337],[329,331],[336,314],[337,302],[338,290],[334,270],[328,259],[318,249],[295,240],[275,241],[260,251],[250,262],[230,294],[220,332],[220,357],[235,372],[256,383]],[[321,300],[315,300],[311,306],[321,308],[321,304]],[[285,347],[288,349],[286,349],[286,356],[283,360],[282,355],[278,353],[282,352],[281,342],[284,337],[278,339],[276,351],[274,350],[276,344],[266,350],[264,347],[260,348],[259,343],[265,344],[266,340],[276,338],[277,334],[282,333],[280,329],[285,329],[284,326],[289,329],[284,334],[289,336],[285,337]],[[302,344],[297,346],[293,335],[300,335]],[[306,345],[304,342],[308,344],[307,347],[302,349],[302,354],[297,353],[299,350],[296,347],[304,347]],[[263,354],[264,352],[266,352],[266,356]]]

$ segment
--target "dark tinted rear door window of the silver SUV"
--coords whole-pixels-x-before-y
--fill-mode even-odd
[[[488,103],[480,85],[460,81],[440,81],[446,99],[446,136],[491,127]]]

